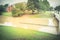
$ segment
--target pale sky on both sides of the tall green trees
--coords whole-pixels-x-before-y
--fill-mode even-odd
[[[52,7],[60,5],[60,0],[48,0]],[[14,4],[18,2],[27,2],[27,0],[0,0],[0,4]]]

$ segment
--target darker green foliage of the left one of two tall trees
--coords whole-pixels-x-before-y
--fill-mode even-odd
[[[40,4],[39,0],[28,0],[27,8],[31,9],[31,10],[34,10],[34,9],[39,10],[40,9],[40,5],[39,4]]]

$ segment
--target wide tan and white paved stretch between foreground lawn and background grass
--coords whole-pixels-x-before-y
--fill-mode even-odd
[[[4,23],[8,26],[20,27],[25,29],[32,29],[51,34],[57,34],[56,28],[51,18],[29,18],[29,16],[9,17]]]

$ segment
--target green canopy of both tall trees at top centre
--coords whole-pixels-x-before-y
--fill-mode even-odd
[[[28,9],[49,10],[50,4],[47,0],[28,0]]]

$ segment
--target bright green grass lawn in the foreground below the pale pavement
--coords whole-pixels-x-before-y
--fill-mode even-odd
[[[57,40],[56,35],[10,26],[0,26],[1,40]]]

